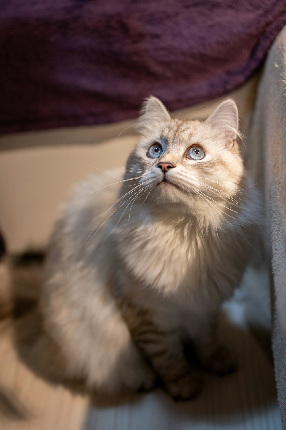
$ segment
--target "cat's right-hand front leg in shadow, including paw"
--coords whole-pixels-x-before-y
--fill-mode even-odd
[[[218,316],[219,312],[201,320],[193,342],[201,365],[210,372],[225,375],[237,369],[237,359],[234,352],[219,341]]]

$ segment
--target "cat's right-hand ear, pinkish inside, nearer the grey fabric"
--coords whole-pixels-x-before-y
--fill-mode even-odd
[[[206,122],[215,127],[230,146],[233,146],[236,137],[240,136],[237,106],[231,98],[222,101]]]

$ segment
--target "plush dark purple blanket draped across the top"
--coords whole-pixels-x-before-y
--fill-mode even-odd
[[[0,0],[0,132],[111,123],[236,88],[285,0]]]

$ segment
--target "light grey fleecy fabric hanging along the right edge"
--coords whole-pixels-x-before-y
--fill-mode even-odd
[[[275,375],[283,429],[286,429],[286,27],[271,51],[259,84],[250,136],[256,181],[265,195],[271,223],[274,280],[273,335]],[[250,160],[253,156],[253,160]],[[265,249],[268,234],[265,237]]]

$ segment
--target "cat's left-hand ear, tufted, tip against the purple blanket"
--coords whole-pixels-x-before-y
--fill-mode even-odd
[[[150,131],[158,123],[170,120],[170,114],[164,104],[157,97],[150,95],[142,104],[140,117],[135,126],[139,132]]]

